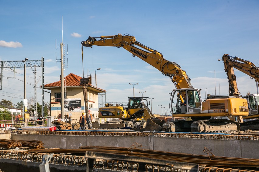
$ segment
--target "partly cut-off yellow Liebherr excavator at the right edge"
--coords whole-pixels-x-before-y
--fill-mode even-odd
[[[249,115],[243,117],[243,119],[254,119],[259,117],[259,94],[257,87],[257,94],[249,94],[243,96],[240,94],[237,88],[236,75],[234,68],[249,75],[251,79],[255,79],[256,82],[259,81],[259,67],[255,66],[252,62],[244,60],[238,57],[232,57],[228,54],[224,54],[222,59],[218,61],[223,61],[224,70],[227,74],[227,79],[229,82],[229,95],[235,97],[241,97],[247,99]],[[256,85],[257,86],[257,85]],[[259,86],[259,85],[258,85]],[[251,120],[240,123],[241,130],[259,130],[259,120]]]

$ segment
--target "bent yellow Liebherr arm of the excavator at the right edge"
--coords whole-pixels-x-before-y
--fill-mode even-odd
[[[224,54],[222,60],[229,81],[230,96],[239,96],[240,94],[237,89],[236,76],[233,68],[236,68],[237,70],[249,75],[251,79],[254,78],[256,82],[259,81],[259,68],[252,62],[238,57],[232,57],[228,54]]]

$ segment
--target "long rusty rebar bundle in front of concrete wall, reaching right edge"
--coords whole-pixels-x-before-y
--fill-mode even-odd
[[[126,147],[83,146],[80,149],[38,149],[29,150],[28,152],[84,155],[86,151],[103,152],[111,154],[124,154],[137,157],[152,157],[154,159],[188,162],[200,165],[212,165],[223,167],[259,167],[259,159],[192,155],[174,152],[153,151],[146,149],[134,149]]]

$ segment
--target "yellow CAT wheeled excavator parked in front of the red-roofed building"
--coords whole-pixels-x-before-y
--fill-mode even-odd
[[[105,107],[99,108],[99,118],[112,118],[105,123],[101,123],[99,128],[138,128],[146,127],[146,120],[153,119],[153,128],[149,130],[161,130],[163,120],[156,118],[148,108],[148,97],[129,97],[127,107],[123,104],[105,104]]]

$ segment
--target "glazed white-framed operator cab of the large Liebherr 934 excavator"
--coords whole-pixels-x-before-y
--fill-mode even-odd
[[[171,93],[170,110],[172,114],[202,113],[202,99],[199,89],[184,88]]]

